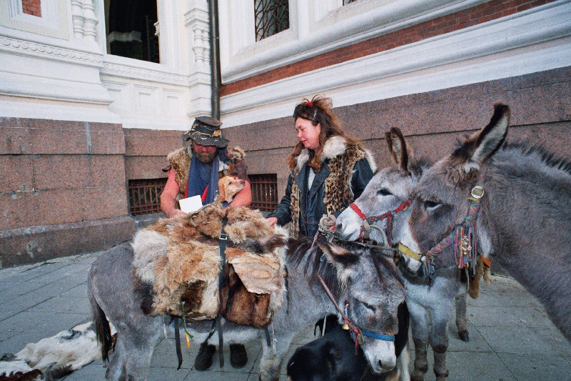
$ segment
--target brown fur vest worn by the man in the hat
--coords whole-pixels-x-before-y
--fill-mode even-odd
[[[220,169],[220,177],[222,178],[230,174],[240,179],[248,180],[246,175],[246,164],[243,162],[243,158],[245,156],[246,154],[240,147],[228,149],[230,162],[228,162],[228,164],[222,161],[219,163],[218,168]],[[163,170],[165,172],[168,172],[168,169],[171,168],[174,170],[176,183],[178,184],[178,194],[180,197],[184,197],[186,186],[188,185],[188,172],[191,170],[192,149],[190,146],[179,148],[168,154],[166,159],[170,166]],[[215,160],[220,159],[216,157]]]

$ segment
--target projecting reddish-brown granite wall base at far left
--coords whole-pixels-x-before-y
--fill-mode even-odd
[[[0,267],[133,234],[121,124],[0,117]]]

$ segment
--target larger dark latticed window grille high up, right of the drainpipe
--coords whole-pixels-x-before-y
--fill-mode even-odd
[[[254,0],[256,41],[289,29],[290,8],[288,0]]]

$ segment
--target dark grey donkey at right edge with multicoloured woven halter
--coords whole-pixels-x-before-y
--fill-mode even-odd
[[[423,174],[401,240],[420,262],[408,257],[407,267],[438,272],[472,250],[490,253],[571,340],[571,163],[504,144],[509,121],[509,107],[495,105],[490,124]]]

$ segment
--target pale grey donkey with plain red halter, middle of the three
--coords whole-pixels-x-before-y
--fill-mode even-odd
[[[340,214],[335,232],[341,239],[360,238],[367,218],[368,222],[375,221],[375,228],[370,229],[369,234],[373,241],[388,241],[393,245],[403,234],[410,217],[410,209],[406,209],[410,202],[408,199],[431,163],[415,159],[399,129],[390,129],[385,139],[396,166],[375,174],[354,205]],[[458,267],[439,269],[432,282],[409,272],[402,265],[400,268],[406,280],[406,300],[415,344],[415,370],[410,376],[412,380],[422,380],[428,366],[425,364],[429,343],[435,352],[435,367],[436,364],[445,367],[448,322],[454,308],[458,335],[461,340],[468,341],[466,278]]]

